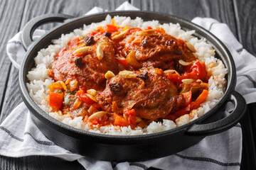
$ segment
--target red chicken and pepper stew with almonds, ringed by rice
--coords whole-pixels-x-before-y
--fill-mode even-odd
[[[208,94],[205,64],[163,28],[97,28],[70,40],[49,75],[56,81],[49,86],[52,110],[97,127],[175,120]]]

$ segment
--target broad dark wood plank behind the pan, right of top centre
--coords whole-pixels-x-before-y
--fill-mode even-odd
[[[174,16],[192,20],[196,16],[211,17],[227,23],[235,36],[238,32],[235,28],[235,13],[232,1],[201,1],[201,0],[132,0],[132,5],[143,11],[156,11],[169,13]]]

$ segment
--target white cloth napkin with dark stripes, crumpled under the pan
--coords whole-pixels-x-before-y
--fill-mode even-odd
[[[116,10],[139,10],[128,2]],[[102,8],[92,8],[88,13],[105,11]],[[88,14],[87,13],[87,14]],[[232,53],[237,65],[238,84],[236,90],[242,94],[247,103],[256,102],[256,63],[255,57],[242,49],[228,26],[212,18],[194,18],[194,23],[210,30]],[[36,30],[34,37],[40,37],[44,30]],[[35,36],[36,35],[36,36]],[[21,33],[18,33],[7,44],[7,54],[16,68],[25,50],[21,44]],[[242,88],[241,88],[242,87]],[[205,137],[201,142],[177,154],[153,159],[146,162],[103,162],[73,154],[48,140],[38,130],[31,119],[31,113],[24,103],[19,104],[0,125],[0,154],[7,157],[25,157],[30,155],[53,156],[67,161],[78,160],[85,169],[240,169],[242,154],[242,130],[240,125]]]

